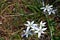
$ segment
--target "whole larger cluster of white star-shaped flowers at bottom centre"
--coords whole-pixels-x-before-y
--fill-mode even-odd
[[[24,24],[27,26],[27,29],[26,29],[26,31],[24,30],[25,34],[23,34],[22,36],[28,37],[28,35],[38,33],[38,38],[40,38],[41,33],[44,33],[44,31],[47,29],[47,28],[43,28],[45,26],[46,22],[41,21],[39,27],[38,27],[38,24],[34,24],[34,21],[32,21],[32,22],[27,21],[27,23],[28,24]],[[33,33],[31,31],[33,31]]]

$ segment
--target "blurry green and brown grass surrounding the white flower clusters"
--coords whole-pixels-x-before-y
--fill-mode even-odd
[[[0,0],[0,40],[39,40],[36,36],[22,38],[27,20],[39,23],[46,21],[47,30],[40,40],[60,40],[60,1],[45,0],[45,5],[54,5],[56,14],[45,16],[40,9],[42,0]]]

